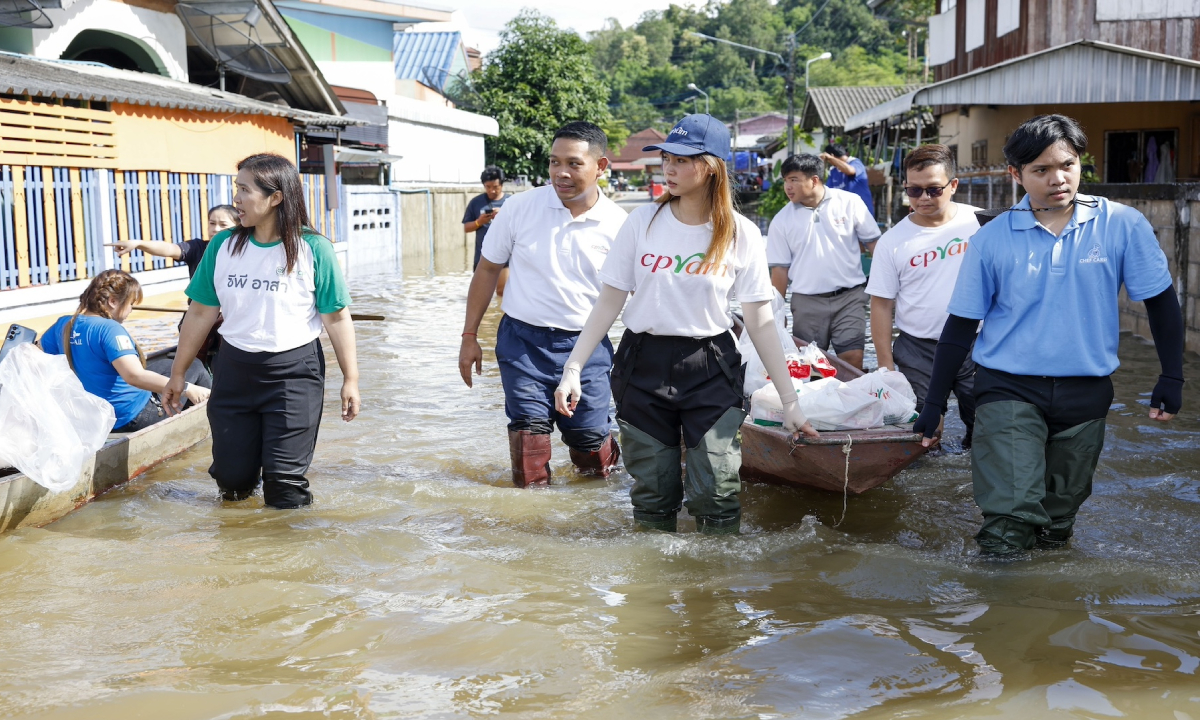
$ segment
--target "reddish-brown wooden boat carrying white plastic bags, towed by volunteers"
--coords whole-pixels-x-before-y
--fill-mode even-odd
[[[740,334],[742,323],[734,323]],[[808,343],[792,338],[796,347]],[[863,371],[834,355],[838,379],[850,382]],[[858,494],[883,485],[925,454],[911,426],[834,430],[820,438],[793,442],[781,427],[742,425],[742,479]],[[848,462],[847,462],[848,457]]]

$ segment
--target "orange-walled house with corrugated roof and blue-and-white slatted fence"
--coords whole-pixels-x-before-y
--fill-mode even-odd
[[[4,320],[72,310],[110,268],[148,293],[181,289],[185,266],[104,244],[202,236],[208,209],[232,202],[242,157],[298,158],[360,124],[268,0],[61,5],[0,13]],[[230,29],[221,47],[200,18]],[[335,173],[329,162],[304,181],[344,262]]]

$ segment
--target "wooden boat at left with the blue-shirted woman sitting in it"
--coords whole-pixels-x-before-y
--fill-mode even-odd
[[[0,467],[0,533],[52,523],[208,437],[204,406],[187,408],[137,432],[110,434],[92,462],[84,464],[74,486],[62,492],[50,492],[14,468]]]

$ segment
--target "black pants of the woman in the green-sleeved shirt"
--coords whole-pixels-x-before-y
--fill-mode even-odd
[[[224,498],[248,497],[262,478],[268,505],[311,503],[305,473],[317,448],[325,396],[320,341],[282,353],[247,353],[227,342],[216,365],[209,474]]]

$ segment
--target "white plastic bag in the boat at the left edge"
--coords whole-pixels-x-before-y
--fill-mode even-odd
[[[0,362],[0,461],[52,492],[74,487],[116,414],[83,389],[65,355],[20,344]]]

